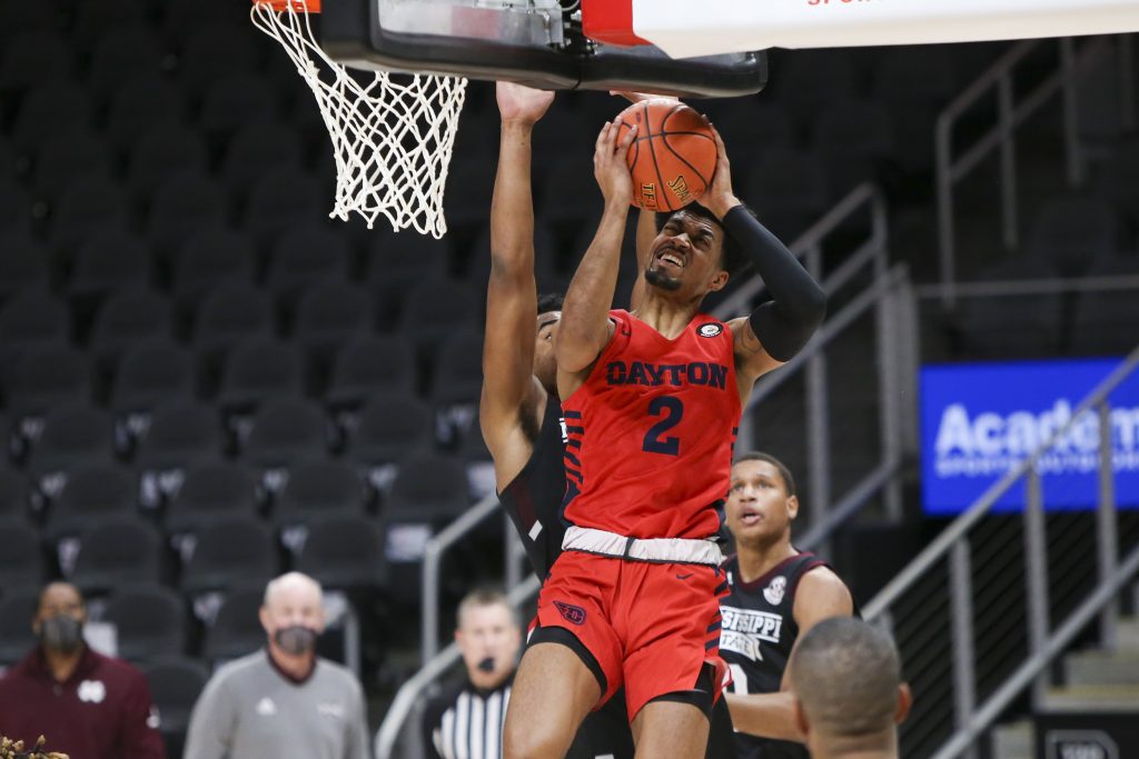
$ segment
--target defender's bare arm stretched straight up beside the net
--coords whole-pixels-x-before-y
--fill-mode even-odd
[[[499,165],[491,200],[491,275],[486,288],[483,393],[480,422],[492,452],[503,428],[518,420],[534,391],[534,208],[531,193],[533,126],[552,92],[498,83],[502,116]]]

